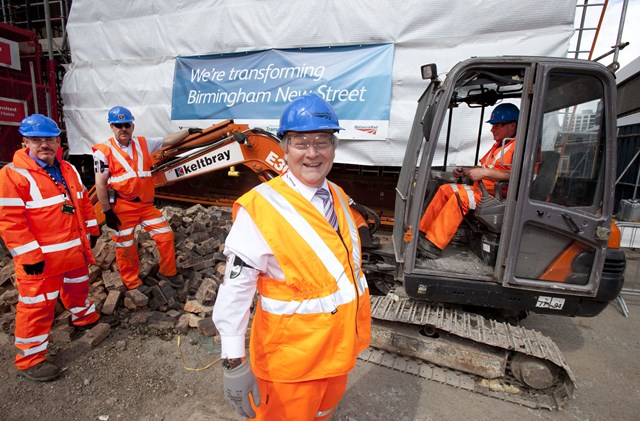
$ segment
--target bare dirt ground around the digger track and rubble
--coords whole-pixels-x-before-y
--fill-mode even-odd
[[[637,255],[635,257],[637,259]],[[638,277],[630,260],[627,277]],[[640,413],[640,297],[625,295],[589,319],[531,315],[529,328],[550,336],[576,380],[558,411],[534,410],[359,361],[334,420],[637,420]],[[91,350],[53,343],[65,368],[54,382],[18,378],[13,337],[0,333],[0,420],[239,420],[221,392],[219,346],[192,329],[180,338],[126,324]],[[199,370],[188,370],[185,368]]]

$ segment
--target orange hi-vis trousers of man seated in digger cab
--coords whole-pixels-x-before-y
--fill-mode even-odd
[[[460,197],[458,202],[457,196]],[[467,184],[443,184],[420,220],[420,231],[439,249],[447,247],[469,209],[475,209],[482,191]]]

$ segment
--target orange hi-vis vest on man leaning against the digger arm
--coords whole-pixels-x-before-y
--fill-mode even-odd
[[[155,186],[151,177],[152,162],[144,137],[131,138],[131,157],[117,145],[114,138],[94,145],[92,149],[99,150],[107,158],[107,183],[118,192],[118,196],[124,200],[140,198],[142,202],[153,203]]]

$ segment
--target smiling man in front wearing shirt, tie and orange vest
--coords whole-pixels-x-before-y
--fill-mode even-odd
[[[278,130],[289,170],[233,207],[213,320],[222,340],[225,397],[248,418],[328,419],[369,345],[358,230],[349,198],[325,178],[338,130],[335,111],[318,95],[293,101]]]

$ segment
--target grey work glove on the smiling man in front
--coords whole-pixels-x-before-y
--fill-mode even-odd
[[[246,418],[254,418],[255,411],[251,407],[251,398],[255,406],[260,406],[260,391],[256,376],[251,371],[251,363],[247,358],[239,366],[231,369],[224,369],[223,375],[224,397],[233,409]]]

